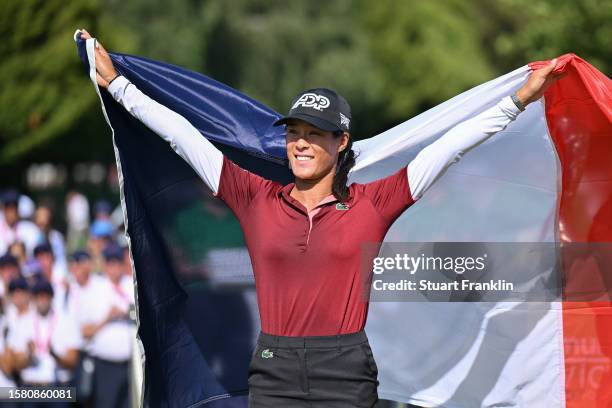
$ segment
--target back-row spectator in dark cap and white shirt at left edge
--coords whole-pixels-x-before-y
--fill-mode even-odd
[[[34,223],[21,220],[18,203],[20,194],[16,190],[5,191],[2,195],[2,214],[0,219],[0,253],[8,250],[15,241],[25,244],[28,254],[32,253],[34,246],[39,242],[41,233]]]

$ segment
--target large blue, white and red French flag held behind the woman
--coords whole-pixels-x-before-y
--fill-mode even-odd
[[[226,234],[236,222],[166,142],[98,89],[94,40],[77,31],[75,41],[112,130],[137,284],[143,403],[246,406],[259,322],[248,255]],[[272,126],[278,113],[204,75],[111,57],[122,75],[241,167],[291,180],[283,131]],[[397,171],[544,64],[532,62],[358,141],[349,182]],[[562,298],[370,303],[366,332],[381,398],[456,408],[612,404],[609,297],[571,295],[612,285],[612,251],[575,253],[576,244],[612,243],[612,82],[574,54],[558,57],[556,70],[566,75],[451,166],[385,241],[552,243]]]

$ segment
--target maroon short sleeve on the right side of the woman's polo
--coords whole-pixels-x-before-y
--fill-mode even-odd
[[[385,178],[361,185],[363,194],[389,223],[393,223],[414,203],[408,185],[408,167],[402,167]]]

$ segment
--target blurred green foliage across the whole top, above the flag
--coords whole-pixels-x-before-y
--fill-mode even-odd
[[[112,156],[77,27],[110,51],[202,72],[279,112],[303,89],[337,89],[361,138],[529,61],[575,52],[607,73],[610,21],[607,0],[8,0],[0,163],[82,155],[78,143],[58,148],[82,129]]]

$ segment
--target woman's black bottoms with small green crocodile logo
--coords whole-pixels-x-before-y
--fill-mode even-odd
[[[260,333],[249,407],[374,407],[378,368],[364,331],[286,337]]]

